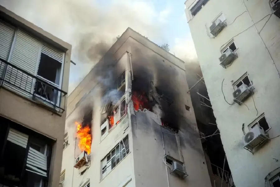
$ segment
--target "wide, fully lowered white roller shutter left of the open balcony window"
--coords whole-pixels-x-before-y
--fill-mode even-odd
[[[39,50],[40,41],[25,33],[21,29],[18,29],[15,47],[12,51],[10,63],[34,75]],[[9,87],[10,89],[15,90],[27,97],[29,97],[30,94],[26,92],[33,92],[31,91],[32,78],[10,66],[7,69],[5,81],[6,87]],[[10,82],[12,85],[17,87],[12,86],[7,82]]]

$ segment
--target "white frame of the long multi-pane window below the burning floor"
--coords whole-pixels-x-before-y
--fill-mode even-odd
[[[124,145],[124,139],[127,138],[128,140],[128,144]],[[117,154],[117,147],[119,146],[119,152]],[[121,149],[121,150],[120,150]],[[119,165],[119,163],[126,158],[126,156],[130,153],[130,149],[129,149],[129,136],[128,134],[126,136],[124,136],[124,138],[122,140],[120,140],[120,142],[100,161],[100,165],[101,165],[101,172],[100,172],[100,180],[103,180],[115,167],[117,167]],[[107,157],[109,157],[110,155],[110,159],[108,160]],[[112,168],[113,163],[112,163],[112,158],[114,158],[114,162],[116,163],[116,165]],[[117,159],[119,158],[119,163],[117,163]],[[102,165],[102,162],[106,164]],[[109,168],[109,169],[108,169]],[[107,172],[109,171],[109,172]],[[105,175],[103,176],[103,174],[105,173]]]

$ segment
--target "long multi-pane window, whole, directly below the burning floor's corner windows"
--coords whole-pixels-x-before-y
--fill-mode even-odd
[[[124,137],[101,161],[101,179],[107,176],[129,153],[128,135]]]

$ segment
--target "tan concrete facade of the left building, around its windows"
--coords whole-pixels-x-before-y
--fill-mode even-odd
[[[71,45],[54,37],[53,35],[43,31],[41,28],[15,15],[0,6],[1,19],[11,23],[17,27],[25,29],[33,36],[52,44],[59,49],[66,51],[62,90],[68,91]],[[62,97],[61,105],[64,106],[64,97]],[[66,98],[67,102],[67,98]],[[49,186],[58,186],[59,173],[61,169],[63,137],[65,128],[66,112],[61,115],[54,114],[44,105],[35,103],[32,100],[21,97],[12,91],[6,90],[4,87],[0,90],[0,115],[11,119],[27,128],[56,140],[52,148],[52,158],[49,171]]]

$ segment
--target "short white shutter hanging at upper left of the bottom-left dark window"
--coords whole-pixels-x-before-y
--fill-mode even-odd
[[[7,140],[23,148],[26,148],[28,135],[11,128],[9,130]]]

